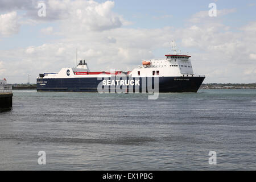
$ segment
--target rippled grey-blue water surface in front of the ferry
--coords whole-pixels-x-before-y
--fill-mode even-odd
[[[256,169],[256,90],[98,94],[14,90],[1,170]],[[38,152],[46,152],[46,165]],[[209,165],[209,151],[217,164]]]

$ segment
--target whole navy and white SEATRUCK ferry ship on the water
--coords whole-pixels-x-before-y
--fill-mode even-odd
[[[148,92],[148,86],[158,92],[197,92],[205,76],[195,75],[189,55],[177,53],[165,55],[163,59],[142,60],[142,65],[133,71],[91,72],[85,60],[76,68],[62,68],[59,73],[43,73],[37,78],[37,90],[54,92],[98,92],[99,87],[119,86],[129,92]],[[103,81],[102,81],[103,80]],[[123,81],[122,81],[123,80]],[[146,80],[146,81],[143,81]],[[136,89],[137,87],[137,89]]]

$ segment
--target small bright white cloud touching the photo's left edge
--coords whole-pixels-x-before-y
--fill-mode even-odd
[[[0,35],[8,36],[19,31],[18,16],[15,11],[0,15]]]

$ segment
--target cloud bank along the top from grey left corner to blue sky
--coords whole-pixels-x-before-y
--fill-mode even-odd
[[[46,16],[38,16],[38,3],[46,3]],[[0,1],[0,10],[22,10],[23,24],[39,24],[61,20],[71,28],[80,30],[109,30],[131,22],[113,12],[113,1],[96,2],[93,0],[9,0]]]

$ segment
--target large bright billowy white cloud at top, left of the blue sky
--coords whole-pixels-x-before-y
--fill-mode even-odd
[[[80,31],[104,31],[130,24],[121,15],[113,13],[115,4],[113,1],[98,3],[92,0],[47,0],[44,2],[47,7],[46,17],[39,17],[36,8],[28,9],[26,17],[35,19],[37,22],[33,20],[27,20],[27,22],[60,20],[69,28]],[[34,4],[36,5],[35,2]]]

